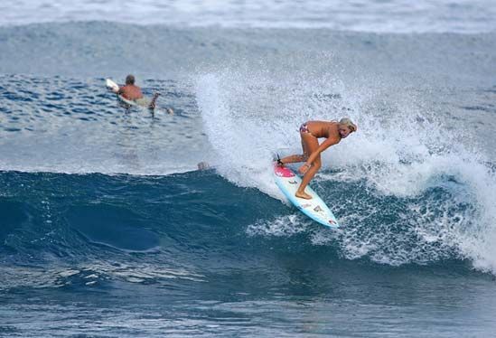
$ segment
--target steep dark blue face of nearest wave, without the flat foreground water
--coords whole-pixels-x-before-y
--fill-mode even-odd
[[[165,177],[4,172],[2,257],[7,264],[41,267],[151,257],[154,268],[182,267],[183,277],[200,279],[240,261],[243,269],[267,269],[272,256],[288,248],[307,259],[364,258],[393,267],[456,266],[456,260],[477,253],[476,262],[493,268],[486,242],[492,233],[483,227],[470,187],[454,175],[439,175],[414,196],[379,193],[365,180],[340,177],[342,171],[326,171],[314,184],[343,224],[329,231],[211,170]],[[100,271],[105,273],[111,272]],[[19,283],[7,279],[4,288]]]

